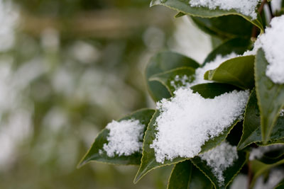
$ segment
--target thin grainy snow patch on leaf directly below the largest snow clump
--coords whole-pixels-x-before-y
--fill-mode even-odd
[[[217,177],[219,185],[224,183],[224,171],[239,158],[236,147],[231,146],[228,142],[222,142],[218,147],[211,149],[200,158],[207,162],[207,166],[212,168],[212,172]]]

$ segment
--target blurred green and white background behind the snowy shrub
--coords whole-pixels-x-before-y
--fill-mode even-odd
[[[209,36],[146,0],[0,0],[0,188],[166,188],[136,166],[77,163],[108,122],[154,107],[144,84],[160,50],[202,62]]]

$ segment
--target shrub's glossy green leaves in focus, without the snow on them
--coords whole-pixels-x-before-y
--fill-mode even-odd
[[[146,123],[147,127],[143,133],[141,154],[133,154],[128,157],[108,157],[105,154],[99,156],[99,149],[102,149],[103,144],[108,143],[106,139],[108,132],[104,129],[95,139],[81,164],[96,160],[121,165],[140,165],[134,183],[137,183],[155,168],[174,164],[168,188],[229,188],[234,178],[241,172],[253,178],[249,181],[249,187],[253,188],[258,177],[268,173],[272,168],[282,168],[283,164],[283,148],[263,152],[256,159],[248,158],[251,151],[255,149],[261,149],[263,146],[268,147],[271,144],[281,145],[284,142],[283,116],[280,116],[280,111],[284,106],[284,85],[274,84],[266,76],[268,61],[262,49],[258,50],[256,55],[241,56],[246,50],[251,50],[253,40],[256,40],[255,33],[261,35],[264,32],[263,28],[267,26],[261,18],[261,15],[264,14],[263,4],[258,5],[256,19],[233,9],[224,11],[219,8],[192,7],[185,0],[153,0],[151,6],[154,5],[173,8],[178,11],[175,17],[189,16],[202,31],[212,35],[212,38],[219,38],[222,44],[212,50],[204,62],[200,62],[200,64],[190,57],[175,52],[165,51],[154,55],[148,62],[145,73],[146,86],[153,101],[159,102],[163,98],[175,96],[177,88],[173,86],[173,82],[177,76],[186,76],[187,78],[187,84],[177,81],[179,87],[189,87],[196,79],[197,69],[206,67],[217,56],[229,55],[231,52],[240,55],[222,62],[216,69],[207,70],[204,74],[207,84],[190,86],[192,91],[200,93],[203,98],[214,98],[234,90],[250,91],[249,102],[246,105],[243,118],[234,120],[230,127],[219,136],[210,137],[204,142],[200,151],[200,154],[204,154],[227,141],[237,146],[239,159],[224,171],[222,185],[219,184],[214,169],[210,168],[200,156],[165,159],[163,163],[156,161],[155,151],[151,148],[151,144],[157,137],[156,121],[160,110],[155,110],[155,113],[154,110],[151,110],[151,113],[148,111],[138,112],[143,118],[146,118],[142,122]],[[136,113],[127,118],[137,118]],[[141,120],[140,117],[138,120]],[[242,132],[236,132],[237,130],[242,130]],[[230,151],[227,153],[229,154]],[[278,188],[281,187],[283,187],[283,181],[278,185]]]

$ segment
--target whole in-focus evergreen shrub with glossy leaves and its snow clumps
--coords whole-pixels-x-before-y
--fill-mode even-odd
[[[169,189],[284,188],[284,3],[273,1],[153,0],[219,45],[204,62],[152,57],[145,75],[156,110],[110,122],[79,166],[137,165],[137,183],[174,164]]]

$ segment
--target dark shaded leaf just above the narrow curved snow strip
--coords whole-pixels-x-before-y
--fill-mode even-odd
[[[218,55],[222,55],[224,57],[225,55],[231,54],[231,52],[235,52],[236,55],[242,55],[246,52],[246,50],[248,50],[250,45],[251,41],[244,38],[227,40],[209,53],[202,66],[204,66],[207,62],[214,61]]]

